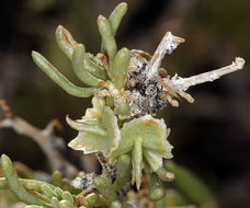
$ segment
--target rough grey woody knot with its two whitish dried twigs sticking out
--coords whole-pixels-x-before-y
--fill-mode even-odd
[[[214,81],[221,76],[243,68],[245,60],[238,57],[230,66],[190,78],[181,78],[177,74],[170,78],[164,70],[164,76],[159,73],[164,55],[171,54],[183,42],[183,38],[173,36],[168,32],[151,58],[146,58],[141,50],[132,50],[128,81],[125,86],[130,91],[130,115],[127,116],[128,118],[147,114],[155,115],[168,103],[178,107],[178,100],[181,100],[181,97],[193,103],[194,99],[185,92],[190,86]]]

